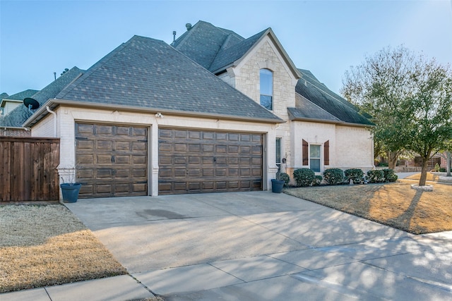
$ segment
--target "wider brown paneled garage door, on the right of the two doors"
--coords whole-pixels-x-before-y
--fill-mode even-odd
[[[159,194],[262,190],[261,134],[159,129]]]

